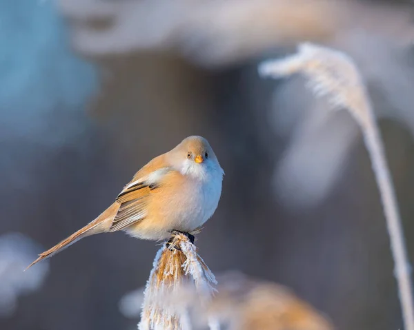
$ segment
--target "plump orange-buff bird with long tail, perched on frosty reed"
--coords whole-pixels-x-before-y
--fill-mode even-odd
[[[115,202],[95,220],[39,254],[26,269],[50,258],[81,238],[125,231],[144,240],[186,234],[213,216],[221,196],[224,170],[202,136],[188,136],[165,154],[153,158],[124,186]]]

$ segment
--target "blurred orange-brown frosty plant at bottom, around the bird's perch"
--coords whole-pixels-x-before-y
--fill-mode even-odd
[[[164,296],[175,307],[191,306],[189,318],[194,329],[206,329],[208,316],[215,315],[220,329],[228,330],[332,330],[331,321],[297,298],[289,289],[273,282],[249,278],[237,271],[218,277],[217,294],[207,308],[199,304],[194,287]],[[127,293],[119,307],[128,318],[138,318],[136,307],[143,301],[144,289]]]

